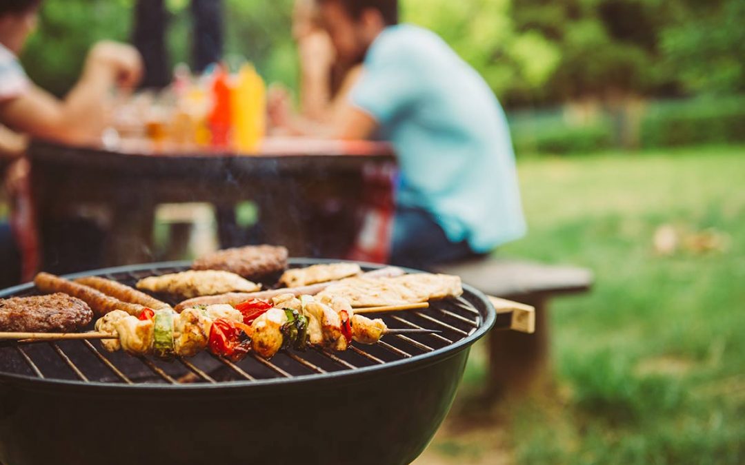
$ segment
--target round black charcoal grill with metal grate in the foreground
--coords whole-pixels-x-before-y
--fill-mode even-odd
[[[323,260],[291,260],[308,266]],[[362,264],[364,269],[375,266]],[[99,275],[133,285],[186,262]],[[410,270],[413,272],[413,270]],[[388,335],[332,353],[230,362],[107,353],[100,341],[0,346],[0,461],[25,464],[408,464],[442,423],[470,346],[497,321],[481,292],[382,315]],[[0,297],[37,293],[33,284]],[[502,326],[509,315],[499,315]]]

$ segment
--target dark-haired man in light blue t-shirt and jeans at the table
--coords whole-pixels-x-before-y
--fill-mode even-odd
[[[343,108],[309,135],[393,143],[402,179],[390,262],[427,268],[522,237],[510,132],[486,82],[435,33],[398,25],[396,0],[319,1],[338,57],[363,65]]]

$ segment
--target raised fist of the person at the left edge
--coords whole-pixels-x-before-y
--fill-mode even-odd
[[[91,48],[86,62],[96,72],[109,73],[112,80],[124,89],[130,89],[142,79],[142,57],[131,45],[120,42],[98,42]]]

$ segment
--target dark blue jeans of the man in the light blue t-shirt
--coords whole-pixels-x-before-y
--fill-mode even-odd
[[[450,242],[443,228],[427,211],[419,208],[396,208],[390,264],[426,270],[440,263],[478,255],[465,240]]]

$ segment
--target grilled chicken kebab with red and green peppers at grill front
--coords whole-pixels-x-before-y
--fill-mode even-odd
[[[272,301],[253,299],[173,310],[145,310],[139,317],[114,311],[96,321],[96,330],[117,335],[104,339],[107,350],[120,348],[134,355],[194,356],[209,347],[212,353],[240,359],[250,350],[264,358],[283,347],[303,350],[310,344],[346,350],[353,340],[374,344],[387,330],[381,319],[355,315],[343,298],[320,298],[288,293]]]

